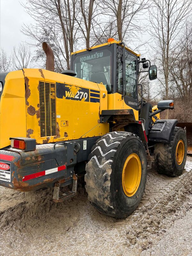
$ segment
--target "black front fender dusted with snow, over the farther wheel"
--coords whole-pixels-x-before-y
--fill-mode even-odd
[[[177,123],[177,119],[161,119],[155,121],[153,127],[149,130],[148,140],[164,143],[171,142],[172,132]]]

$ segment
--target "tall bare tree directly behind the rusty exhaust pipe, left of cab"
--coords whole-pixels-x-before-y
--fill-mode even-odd
[[[57,66],[63,67],[63,59],[70,68],[70,52],[74,51],[76,43],[77,28],[75,24],[75,13],[77,0],[29,0],[26,8],[29,15],[34,17],[36,25],[24,25],[23,33],[30,38],[42,43],[42,35],[45,30],[49,32],[48,37],[55,45],[57,55]],[[59,53],[59,54],[58,54]]]

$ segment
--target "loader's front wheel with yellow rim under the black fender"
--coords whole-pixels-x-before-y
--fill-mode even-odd
[[[172,177],[180,176],[187,158],[187,138],[184,130],[175,127],[170,143],[156,143],[154,158],[158,173]]]

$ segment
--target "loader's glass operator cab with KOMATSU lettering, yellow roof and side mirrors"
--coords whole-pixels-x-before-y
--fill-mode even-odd
[[[112,39],[112,38],[111,38]],[[71,54],[71,70],[76,77],[105,85],[108,94],[119,93],[126,105],[138,109],[139,63],[148,68],[147,60],[140,61],[140,54],[133,52],[123,43],[112,39],[106,44]],[[156,66],[150,71],[150,80],[155,79]],[[150,68],[150,67],[149,67]]]

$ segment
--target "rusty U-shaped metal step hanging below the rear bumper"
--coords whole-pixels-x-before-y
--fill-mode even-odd
[[[53,191],[53,201],[56,202],[56,203],[63,202],[64,200],[68,200],[69,198],[76,195],[77,177],[76,177],[74,171],[73,171],[73,187],[72,187],[72,190],[62,194],[62,196],[59,196],[59,191],[60,191],[60,182],[58,181],[58,182],[55,183],[54,191]]]

